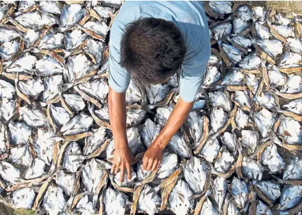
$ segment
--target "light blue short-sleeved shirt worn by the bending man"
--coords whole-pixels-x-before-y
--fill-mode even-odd
[[[202,1],[126,1],[114,19],[110,32],[109,85],[125,92],[130,74],[119,64],[121,38],[125,25],[138,18],[153,17],[172,21],[186,41],[181,65],[179,94],[186,102],[194,101],[210,58],[210,36]]]

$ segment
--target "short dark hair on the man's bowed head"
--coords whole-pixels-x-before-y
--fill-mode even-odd
[[[140,84],[158,84],[177,73],[186,45],[178,27],[161,18],[140,18],[125,27],[121,66]]]

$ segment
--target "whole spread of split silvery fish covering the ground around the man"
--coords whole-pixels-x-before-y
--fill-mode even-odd
[[[108,40],[116,1],[0,2],[0,196],[37,214],[301,214],[301,17],[205,1],[212,54],[158,170],[142,155],[178,75],[127,90],[136,163],[110,174]],[[123,6],[122,6],[123,7]]]

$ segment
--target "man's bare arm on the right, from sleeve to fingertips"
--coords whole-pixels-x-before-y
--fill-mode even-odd
[[[160,134],[155,138],[147,152],[144,154],[142,168],[144,170],[155,170],[162,161],[162,153],[168,142],[179,130],[181,125],[186,121],[190,110],[192,109],[194,101],[188,103],[179,97],[175,108],[173,109],[168,121]]]

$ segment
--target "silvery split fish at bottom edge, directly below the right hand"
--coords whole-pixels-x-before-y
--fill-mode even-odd
[[[151,193],[147,194],[149,190],[151,190],[151,186],[147,184],[144,186],[144,188],[142,188],[140,199],[138,200],[138,210],[149,215],[154,215],[158,213],[161,199],[158,194],[156,194],[155,197],[152,197]]]

